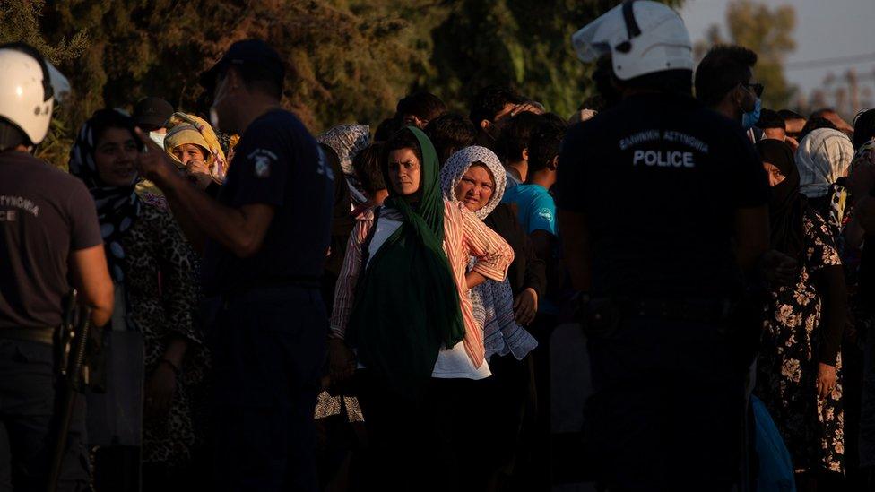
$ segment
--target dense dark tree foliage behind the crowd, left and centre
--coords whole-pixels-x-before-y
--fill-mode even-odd
[[[681,0],[666,0],[677,6]],[[53,135],[146,96],[204,111],[197,76],[231,43],[268,40],[290,67],[283,105],[314,132],[377,125],[415,90],[466,112],[509,83],[560,115],[592,91],[575,30],[619,0],[4,0],[0,39],[38,47],[73,85]],[[56,138],[56,137],[53,137]],[[47,142],[48,144],[49,142]],[[63,143],[63,142],[61,142]],[[65,161],[63,145],[47,145]]]

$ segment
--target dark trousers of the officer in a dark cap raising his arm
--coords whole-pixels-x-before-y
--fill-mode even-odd
[[[318,289],[252,289],[212,324],[212,490],[316,491],[313,412],[325,360]]]

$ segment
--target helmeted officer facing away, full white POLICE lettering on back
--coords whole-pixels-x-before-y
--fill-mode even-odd
[[[593,467],[610,490],[729,490],[744,382],[732,301],[768,242],[767,179],[741,125],[691,97],[678,13],[628,1],[573,37],[611,107],[560,154],[559,229],[584,323]]]

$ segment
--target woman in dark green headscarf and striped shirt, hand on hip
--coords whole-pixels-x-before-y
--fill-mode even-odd
[[[353,229],[334,298],[332,376],[360,368],[373,453],[409,474],[395,473],[398,485],[435,467],[456,485],[471,479],[467,465],[478,463],[466,450],[480,449],[476,383],[490,373],[468,290],[504,281],[514,258],[462,203],[444,201],[438,172],[420,130],[386,142],[389,197]],[[386,474],[372,471],[385,487]]]

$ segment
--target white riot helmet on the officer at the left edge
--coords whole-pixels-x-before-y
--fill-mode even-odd
[[[70,82],[39,51],[24,43],[0,46],[0,121],[14,125],[36,145],[48,134],[52,109]]]

